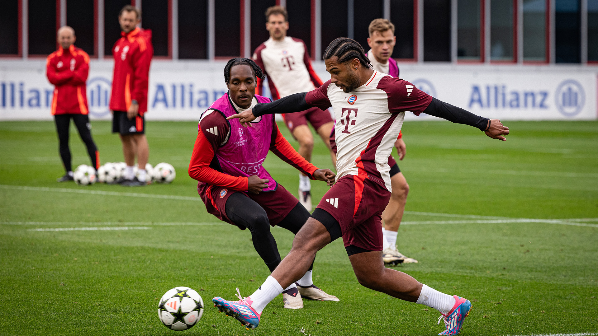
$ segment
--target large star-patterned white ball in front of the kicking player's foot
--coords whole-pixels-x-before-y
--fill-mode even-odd
[[[202,318],[203,300],[199,293],[188,287],[167,291],[158,304],[158,317],[172,330],[191,328]]]

